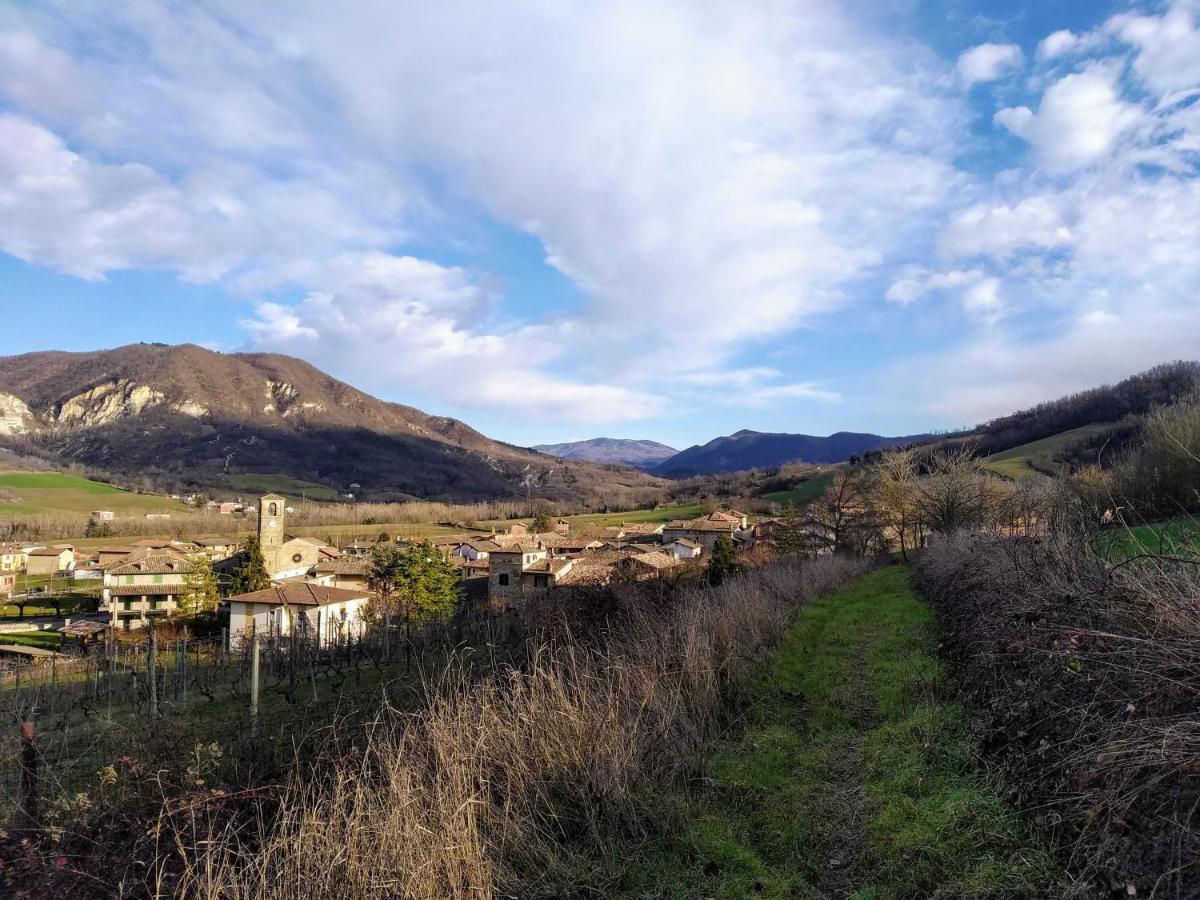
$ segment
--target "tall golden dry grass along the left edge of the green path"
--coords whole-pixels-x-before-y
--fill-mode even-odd
[[[562,895],[664,815],[655,791],[694,770],[792,611],[863,568],[778,563],[521,668],[450,668],[420,712],[384,709],[361,752],[298,775],[269,827],[179,845],[163,884],[181,858],[170,889],[214,900]]]

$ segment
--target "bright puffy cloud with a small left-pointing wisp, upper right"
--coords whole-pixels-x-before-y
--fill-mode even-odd
[[[1141,118],[1135,104],[1121,100],[1117,72],[1100,66],[1073,72],[1051,84],[1037,113],[1026,107],[996,113],[996,122],[1028,140],[1039,162],[1055,174],[1105,158],[1122,133]]]

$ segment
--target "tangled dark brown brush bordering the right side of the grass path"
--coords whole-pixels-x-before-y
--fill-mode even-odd
[[[985,746],[1066,847],[1079,893],[1200,884],[1200,570],[1110,563],[1064,526],[958,535],[923,556]]]

